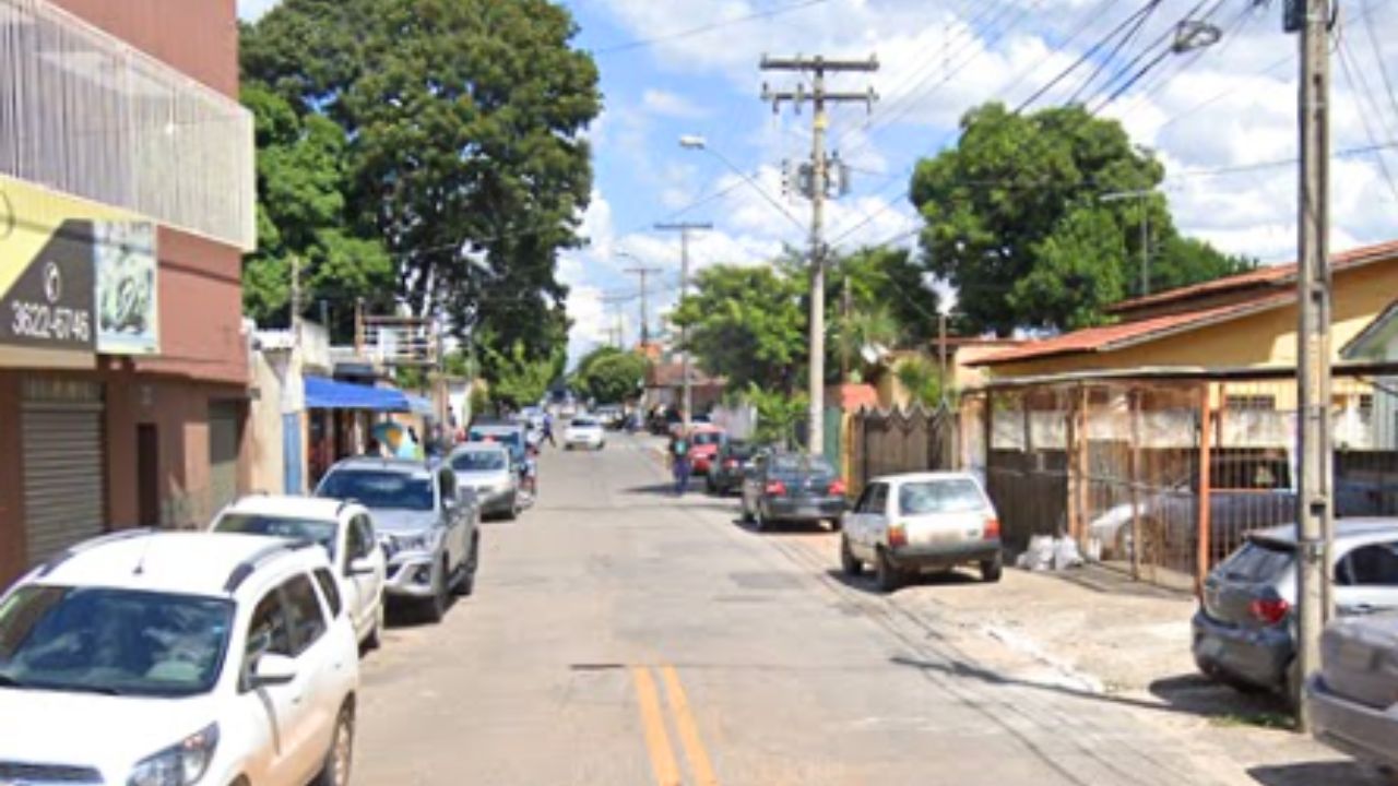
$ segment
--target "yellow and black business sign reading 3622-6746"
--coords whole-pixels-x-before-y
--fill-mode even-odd
[[[155,227],[0,176],[0,344],[159,351]]]

